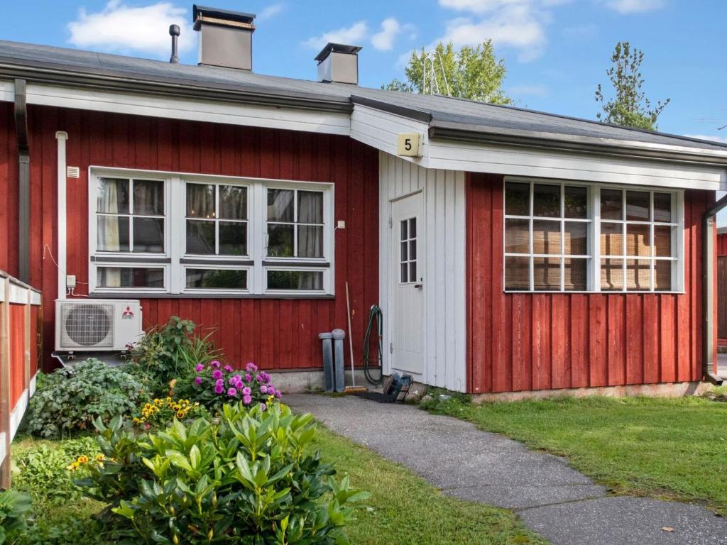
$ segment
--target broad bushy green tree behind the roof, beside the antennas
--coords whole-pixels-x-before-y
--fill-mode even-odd
[[[464,46],[459,50],[454,49],[451,41],[448,44],[440,41],[433,55],[422,47],[419,51],[411,52],[404,73],[406,81],[394,79],[382,85],[382,89],[409,93],[434,92],[492,104],[513,102],[500,89],[505,78],[505,61],[495,58],[491,40],[483,41],[476,47]]]

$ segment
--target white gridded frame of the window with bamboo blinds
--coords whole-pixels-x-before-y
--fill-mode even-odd
[[[529,183],[530,184],[530,197],[529,197],[529,215],[528,216],[515,216],[506,213],[505,205],[505,188],[508,182],[515,183]],[[561,187],[561,216],[544,218],[535,217],[533,215],[534,198],[533,191],[534,185],[558,185]],[[588,198],[588,219],[577,219],[577,218],[565,218],[563,217],[563,201],[565,198],[563,188],[569,187],[587,187],[587,198]],[[621,220],[601,220],[601,189],[612,189],[621,190],[623,201],[624,218]],[[640,191],[650,194],[650,209],[649,214],[651,221],[638,222],[634,220],[627,220],[626,214],[626,191]],[[654,197],[653,193],[669,193],[672,195],[672,210],[676,216],[675,222],[654,222],[653,208],[654,208]],[[502,185],[502,286],[505,293],[523,294],[523,293],[565,293],[565,294],[683,294],[684,293],[684,190],[683,189],[672,189],[669,187],[645,187],[637,185],[616,185],[616,184],[598,184],[593,182],[580,182],[578,180],[568,179],[547,179],[547,178],[535,178],[535,177],[505,177]],[[529,254],[516,254],[505,251],[506,249],[506,233],[505,233],[505,220],[506,219],[523,219],[529,220]],[[533,253],[533,237],[532,234],[532,222],[533,220],[545,219],[553,222],[561,222],[561,254],[534,254]],[[653,241],[654,225],[656,226],[670,226],[675,229],[676,235],[672,238],[672,257],[635,257],[629,256],[624,257],[626,254],[626,236],[625,233],[622,235],[623,256],[604,256],[603,259],[622,259],[623,267],[623,287],[620,290],[602,290],[601,289],[601,221],[606,223],[621,223],[621,224],[641,224],[650,225],[651,240]],[[563,237],[563,222],[586,222],[588,227],[587,230],[587,248],[589,255],[587,256],[571,256],[563,253],[565,239]],[[561,259],[561,289],[558,290],[537,290],[537,289],[508,289],[505,288],[505,257],[528,257],[529,258],[529,283],[531,288],[534,287],[534,257],[552,257],[554,259],[561,259],[563,257],[585,257],[587,258],[587,289],[585,290],[566,290],[564,289],[563,283],[565,282],[565,275],[563,271],[563,259]],[[627,290],[626,280],[626,260],[627,259],[649,259],[651,260],[651,286],[648,290]],[[672,289],[671,290],[654,290],[654,262],[658,260],[668,260],[676,262],[675,267],[672,267]]]

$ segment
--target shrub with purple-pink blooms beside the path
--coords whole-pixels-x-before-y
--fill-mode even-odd
[[[190,399],[204,405],[210,411],[219,411],[226,403],[242,401],[243,405],[261,405],[262,410],[277,403],[281,391],[270,383],[270,375],[259,371],[250,362],[245,371],[236,371],[231,366],[222,366],[217,360],[209,364],[198,363],[196,375],[181,384],[177,392],[183,392]]]

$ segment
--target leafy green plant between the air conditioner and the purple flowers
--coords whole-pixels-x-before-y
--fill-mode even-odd
[[[193,321],[172,316],[166,326],[150,329],[134,345],[133,362],[126,371],[139,377],[150,397],[165,397],[169,382],[187,378],[198,363],[221,357],[212,342],[214,331],[197,336],[195,330]]]

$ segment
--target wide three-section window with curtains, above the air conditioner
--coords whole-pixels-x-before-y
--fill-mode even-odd
[[[332,294],[333,187],[93,168],[89,288]]]

